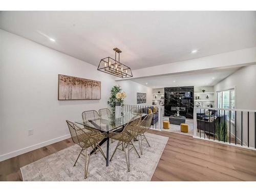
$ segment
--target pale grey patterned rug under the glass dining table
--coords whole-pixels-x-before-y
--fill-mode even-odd
[[[84,158],[80,157],[73,164],[80,152],[78,145],[73,145],[50,156],[20,168],[24,181],[150,181],[158,161],[163,153],[168,137],[146,133],[150,147],[143,140],[143,155],[138,158],[134,150],[130,151],[130,170],[123,151],[117,150],[109,166],[98,152],[91,155],[88,178],[84,179]],[[139,150],[139,142],[133,142]],[[110,156],[113,154],[117,141],[110,142]],[[106,152],[106,144],[102,145]]]

